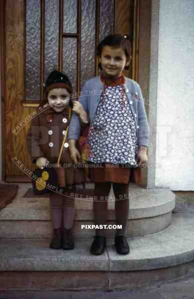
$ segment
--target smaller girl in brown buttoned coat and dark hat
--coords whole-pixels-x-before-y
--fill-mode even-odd
[[[49,74],[44,90],[44,101],[37,108],[27,133],[27,146],[32,162],[37,167],[56,163],[70,122],[70,104],[85,122],[82,105],[71,103],[72,86],[68,77],[59,71]],[[41,138],[40,138],[41,137]],[[74,184],[86,181],[84,170],[73,167],[68,142],[64,144],[60,158],[61,167],[56,167],[57,181],[63,193],[50,191],[53,238],[50,248],[73,249],[72,226],[75,217],[74,198],[65,195],[65,190]],[[67,193],[66,193],[67,194]]]

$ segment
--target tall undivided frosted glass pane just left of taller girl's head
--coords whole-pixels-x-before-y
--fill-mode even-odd
[[[95,76],[95,0],[82,0],[81,8],[81,60],[80,88]]]

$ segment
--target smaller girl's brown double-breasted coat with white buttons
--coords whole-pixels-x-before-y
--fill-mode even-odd
[[[63,122],[64,119],[67,120],[66,123]],[[64,139],[63,131],[66,130],[69,122],[68,108],[61,113],[55,112],[51,107],[43,109],[43,105],[36,109],[36,115],[31,120],[27,132],[27,148],[32,162],[40,156],[46,157],[50,163],[57,162]],[[53,147],[49,146],[50,143]],[[86,181],[84,169],[73,166],[69,148],[63,148],[60,165],[61,167],[55,168],[60,187]]]

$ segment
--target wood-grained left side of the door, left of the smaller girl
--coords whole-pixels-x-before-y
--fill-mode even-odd
[[[21,127],[33,108],[23,108],[24,99],[24,0],[5,3],[5,103],[4,103],[4,166],[5,175],[23,175],[11,160],[15,156],[31,167],[25,137],[27,127]],[[19,132],[16,127],[22,128]],[[15,134],[13,133],[15,130]],[[18,132],[18,133],[17,133]],[[17,134],[16,134],[17,133]]]

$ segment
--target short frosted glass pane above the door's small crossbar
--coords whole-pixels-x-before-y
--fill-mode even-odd
[[[63,32],[77,33],[77,0],[63,0]]]

